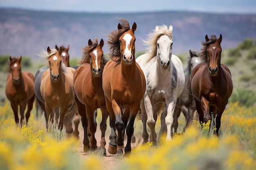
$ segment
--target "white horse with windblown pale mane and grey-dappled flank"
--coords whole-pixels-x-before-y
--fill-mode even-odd
[[[148,39],[143,42],[148,46],[148,52],[136,60],[146,78],[146,92],[140,106],[142,137],[144,143],[148,142],[146,130],[148,124],[151,132],[150,142],[156,145],[155,122],[162,110],[164,110],[162,115],[166,115],[166,140],[171,140],[173,113],[177,97],[180,96],[185,85],[185,75],[181,60],[176,55],[172,55],[173,26],[170,25],[169,29],[166,25],[156,26],[154,32],[150,33]]]

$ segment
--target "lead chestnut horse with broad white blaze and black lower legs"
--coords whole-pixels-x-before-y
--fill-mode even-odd
[[[126,19],[121,18],[119,21],[117,30],[111,31],[108,35],[107,43],[111,60],[104,67],[102,86],[110,113],[111,134],[108,152],[116,154],[118,150],[118,153],[123,153],[126,130],[127,144],[124,154],[127,155],[131,152],[133,125],[140,101],[145,93],[146,81],[141,68],[135,61],[136,38],[134,32],[137,29],[137,24],[134,22],[130,28]],[[123,106],[125,106],[125,110],[121,115]]]

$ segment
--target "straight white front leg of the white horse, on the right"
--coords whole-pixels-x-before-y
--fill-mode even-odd
[[[171,128],[173,126],[173,114],[174,114],[175,105],[176,105],[176,99],[171,99],[169,104],[166,104],[167,106],[167,115],[165,117],[165,123],[167,127],[166,140],[172,140]]]

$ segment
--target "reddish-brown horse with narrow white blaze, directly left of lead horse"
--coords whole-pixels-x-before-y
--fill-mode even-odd
[[[94,110],[101,109],[102,121],[100,124],[101,141],[99,150],[103,149],[106,155],[105,132],[107,128],[108,110],[106,100],[102,89],[102,71],[107,60],[103,56],[103,40],[98,44],[97,38],[94,41],[88,41],[88,46],[83,48],[83,56],[79,61],[81,64],[74,73],[73,95],[81,115],[81,121],[84,130],[83,150],[87,152],[89,148],[96,149],[97,141],[95,139],[96,124],[94,124]],[[88,129],[89,119],[89,129]],[[88,140],[88,130],[91,134],[90,144]]]

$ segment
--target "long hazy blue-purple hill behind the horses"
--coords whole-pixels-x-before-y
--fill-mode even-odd
[[[70,44],[70,56],[81,57],[82,48],[95,36],[104,40],[117,28],[118,18],[126,18],[135,31],[136,52],[145,51],[141,39],[155,29],[155,25],[173,25],[173,53],[199,51],[206,34],[223,36],[222,48],[233,48],[245,38],[256,38],[256,15],[216,14],[195,12],[144,13],[73,13],[0,9],[0,54],[27,55],[54,48],[55,44]]]

